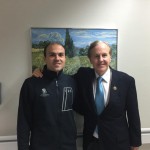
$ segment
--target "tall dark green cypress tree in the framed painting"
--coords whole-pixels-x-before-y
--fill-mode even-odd
[[[66,29],[66,38],[65,38],[65,50],[66,50],[66,55],[68,57],[74,57],[74,44],[73,40],[69,34],[69,29]]]

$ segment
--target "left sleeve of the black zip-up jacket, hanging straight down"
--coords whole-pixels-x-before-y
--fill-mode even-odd
[[[17,141],[18,150],[29,150],[29,139],[32,124],[31,99],[32,90],[27,80],[22,85],[19,97],[17,118]]]

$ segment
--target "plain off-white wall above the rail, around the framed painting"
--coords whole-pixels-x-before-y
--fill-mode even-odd
[[[150,127],[149,0],[0,0],[0,136],[16,134],[19,91],[31,75],[31,27],[118,29],[118,70],[136,79],[142,127]]]

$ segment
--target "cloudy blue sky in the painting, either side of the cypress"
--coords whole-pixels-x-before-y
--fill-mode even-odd
[[[65,41],[65,28],[31,28],[32,43],[49,40],[51,33],[59,33],[59,37]],[[95,40],[117,44],[116,29],[69,29],[71,38],[76,47],[85,47]]]

